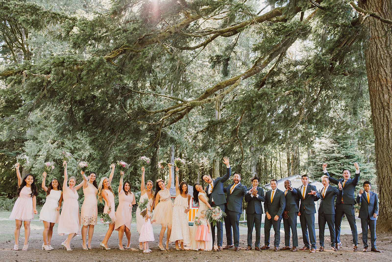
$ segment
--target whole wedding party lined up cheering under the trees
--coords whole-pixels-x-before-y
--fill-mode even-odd
[[[120,162],[121,164],[122,162]],[[377,194],[370,191],[370,181],[363,183],[357,196],[354,195],[356,185],[359,181],[359,166],[356,168],[354,178],[350,178],[350,171],[343,170],[343,177],[332,178],[327,172],[327,164],[323,164],[324,175],[322,176],[323,188],[317,191],[314,185],[309,184],[307,175],[302,175],[302,185],[299,188],[291,187],[290,180],[286,180],[285,191],[278,189],[278,181],[270,180],[271,189],[264,194],[263,188],[259,187],[259,179],[251,178],[251,185],[247,187],[241,184],[241,174],[234,172],[233,183],[224,186],[224,182],[231,176],[229,158],[224,157],[226,174],[222,177],[211,178],[207,174],[202,175],[206,186],[196,183],[193,185],[193,201],[198,204],[198,211],[194,218],[194,224],[188,224],[188,212],[190,211],[191,195],[188,193],[188,184],[178,179],[178,167],[176,167],[176,197],[171,200],[169,189],[172,180],[172,164],[165,163],[169,167],[169,180],[167,183],[162,179],[154,183],[148,180],[145,183],[145,169],[142,167],[142,178],[140,186],[140,200],[136,209],[136,226],[139,236],[139,249],[143,253],[150,253],[149,242],[155,241],[152,225],[161,227],[158,248],[169,249],[169,242],[175,242],[176,250],[187,249],[211,251],[215,244],[216,229],[216,251],[230,249],[239,251],[239,220],[242,214],[243,199],[247,202],[247,248],[252,249],[252,232],[256,229],[255,250],[270,249],[270,230],[274,229],[273,250],[278,251],[280,244],[280,226],[283,219],[285,231],[285,246],[280,250],[308,250],[316,252],[315,233],[315,202],[321,199],[318,212],[319,224],[319,251],[324,251],[324,231],[328,225],[331,239],[331,250],[339,250],[340,229],[342,217],[345,215],[352,231],[353,251],[358,251],[358,233],[355,222],[354,204],[360,203],[359,218],[362,225],[363,251],[368,251],[367,232],[370,229],[370,251],[380,252],[376,247],[376,219],[378,215]],[[123,163],[125,166],[126,163]],[[92,249],[94,226],[98,223],[98,201],[104,202],[103,213],[100,221],[108,224],[108,230],[100,243],[102,249],[110,249],[107,245],[114,230],[118,231],[118,247],[121,250],[131,248],[131,222],[132,205],[136,204],[134,193],[131,192],[131,182],[123,181],[124,172],[120,171],[120,183],[118,190],[114,193],[111,182],[114,176],[115,164],[111,164],[109,177],[102,177],[99,184],[96,182],[96,173],[90,172],[86,176],[84,170],[82,183],[76,185],[76,177],[68,177],[67,161],[63,162],[64,182],[54,178],[46,185],[47,173],[42,174],[42,189],[46,192],[46,201],[42,207],[39,219],[44,224],[42,249],[52,250],[51,238],[54,224],[58,223],[58,234],[67,238],[62,242],[62,247],[71,251],[70,243],[74,236],[82,235],[82,248]],[[87,166],[87,164],[86,164]],[[16,175],[18,177],[17,200],[11,212],[10,219],[15,219],[15,245],[14,250],[20,249],[18,238],[22,224],[25,229],[25,240],[22,250],[29,247],[30,222],[36,209],[37,187],[34,183],[33,174],[21,177],[20,164],[16,163]],[[329,183],[338,187],[332,187]],[[78,189],[83,188],[84,200],[79,211]],[[115,206],[115,197],[118,196],[118,206]],[[225,195],[226,194],[226,195]],[[336,206],[335,206],[336,198]],[[60,213],[61,209],[61,213]],[[261,215],[265,213],[264,221],[264,245],[260,247]],[[304,247],[298,248],[297,216],[299,216],[303,233]],[[225,222],[226,246],[223,247],[223,221]],[[291,231],[291,234],[290,234]],[[165,246],[163,237],[166,232]],[[127,244],[123,246],[123,236],[127,238]],[[292,235],[292,245],[290,245]]]

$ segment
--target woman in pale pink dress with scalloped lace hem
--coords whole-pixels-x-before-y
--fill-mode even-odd
[[[97,224],[98,207],[97,207],[97,194],[98,186],[96,182],[96,173],[90,172],[89,177],[84,174],[83,176],[83,194],[84,200],[82,208],[80,209],[80,222],[82,222],[82,248],[84,250],[92,249],[91,240],[93,239],[94,226]],[[89,239],[86,244],[87,231]]]

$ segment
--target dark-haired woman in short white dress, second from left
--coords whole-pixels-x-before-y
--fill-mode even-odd
[[[58,223],[60,219],[60,208],[63,202],[63,192],[61,191],[61,185],[57,178],[53,178],[48,187],[45,185],[46,172],[42,174],[41,187],[46,192],[45,204],[40,212],[40,220],[44,223],[44,232],[42,237],[44,243],[42,244],[42,250],[53,250],[50,242],[52,240],[53,226]]]

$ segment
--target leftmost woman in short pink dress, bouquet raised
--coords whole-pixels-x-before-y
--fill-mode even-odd
[[[18,177],[18,189],[16,190],[18,199],[15,202],[9,219],[15,219],[14,250],[19,249],[19,234],[22,222],[25,228],[25,241],[22,250],[27,250],[29,248],[30,222],[34,219],[34,214],[38,214],[35,206],[38,192],[34,183],[34,176],[32,174],[27,174],[22,179],[19,172],[19,163],[16,163],[15,167],[16,176]]]

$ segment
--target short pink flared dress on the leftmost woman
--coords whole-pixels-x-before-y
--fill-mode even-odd
[[[31,187],[24,186],[16,199],[9,219],[22,221],[33,221],[34,209],[33,198],[31,197]]]

